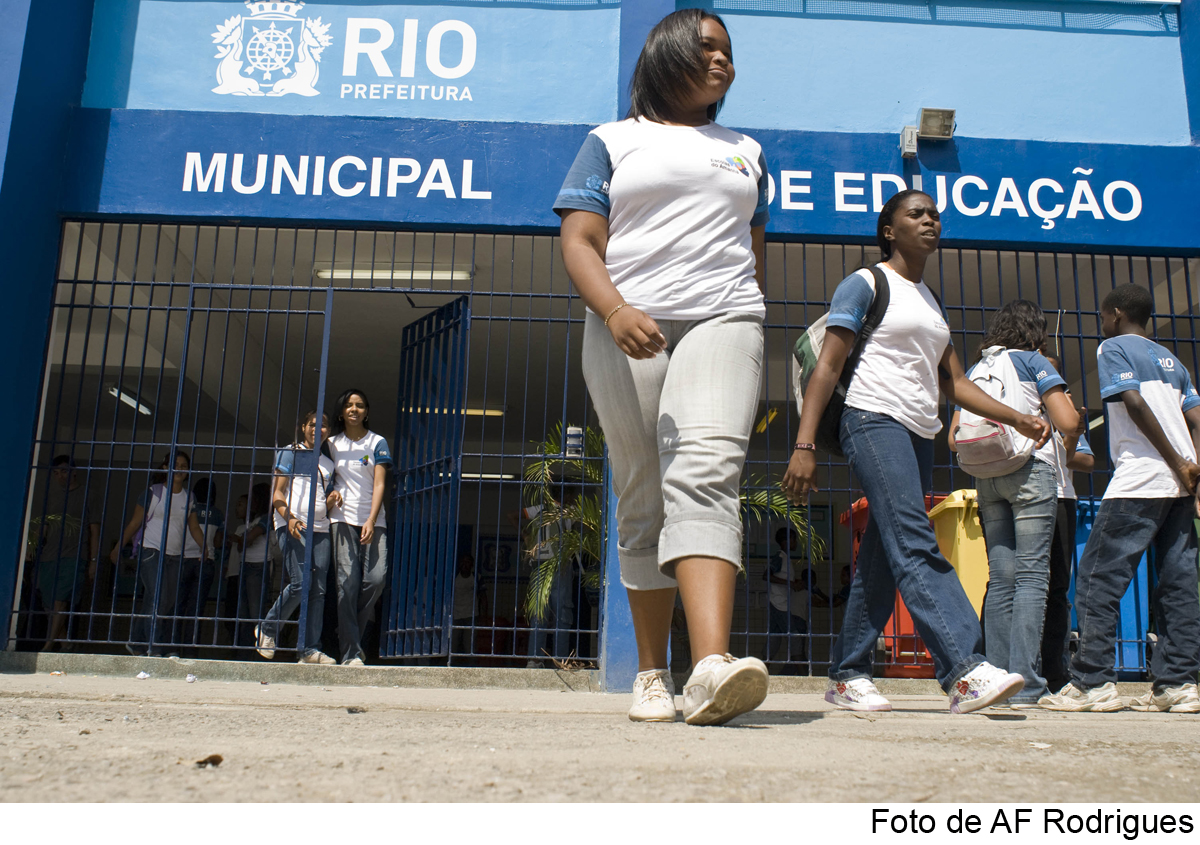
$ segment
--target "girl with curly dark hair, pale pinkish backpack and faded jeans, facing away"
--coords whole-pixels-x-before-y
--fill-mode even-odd
[[[1067,383],[1039,352],[1045,343],[1042,308],[1025,299],[1009,302],[992,317],[967,378],[1018,412],[1042,415],[1044,409],[1055,429],[1074,435],[1079,414],[1067,396]],[[976,475],[979,491],[988,540],[984,652],[990,663],[1025,678],[1012,706],[1037,707],[1046,691],[1038,658],[1058,509],[1061,441],[1052,437],[1034,448],[1032,441],[1003,431],[983,414],[955,412],[948,442],[962,469]],[[1010,455],[998,457],[1002,453]]]

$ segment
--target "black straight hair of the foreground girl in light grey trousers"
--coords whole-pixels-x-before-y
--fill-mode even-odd
[[[664,124],[679,114],[679,104],[691,86],[702,84],[708,67],[701,46],[700,25],[715,20],[728,34],[730,28],[712,12],[682,8],[654,24],[646,46],[637,56],[634,77],[629,80],[629,114]],[[733,64],[732,48],[730,64]],[[715,120],[725,97],[708,107],[708,119]]]

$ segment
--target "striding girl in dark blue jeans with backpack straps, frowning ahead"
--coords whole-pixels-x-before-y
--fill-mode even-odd
[[[962,371],[941,305],[922,281],[941,233],[937,205],[922,191],[892,197],[876,226],[883,253],[878,269],[889,287],[889,305],[863,344],[839,421],[841,448],[870,502],[841,633],[830,654],[826,701],[844,709],[892,709],[871,683],[871,661],[898,588],[934,657],[952,713],[997,703],[1024,684],[1020,675],[997,669],[979,653],[979,619],[938,551],[925,513],[934,437],[942,427],[938,385],[952,401],[1016,427],[1039,445],[1050,436],[1050,426],[991,398]],[[834,292],[784,475],[784,491],[793,501],[803,502],[816,490],[817,427],[870,311],[875,283],[872,272],[859,270]]]

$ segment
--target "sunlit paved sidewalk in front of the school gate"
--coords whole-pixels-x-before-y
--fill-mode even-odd
[[[546,670],[548,672],[548,670]],[[772,694],[726,727],[624,695],[0,675],[2,801],[1200,798],[1200,715],[870,717]],[[350,712],[355,711],[355,712]],[[220,754],[218,767],[196,761]]]

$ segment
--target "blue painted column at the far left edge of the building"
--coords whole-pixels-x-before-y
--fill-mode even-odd
[[[24,556],[25,489],[59,246],[61,174],[83,92],[92,0],[4,0],[0,30],[0,647]]]

